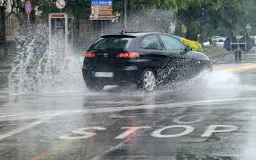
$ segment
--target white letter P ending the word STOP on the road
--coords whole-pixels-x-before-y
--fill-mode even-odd
[[[224,129],[217,130],[217,128],[224,128]],[[233,132],[235,130],[238,130],[238,127],[234,125],[210,125],[201,137],[208,138],[212,136],[213,133],[228,133],[228,132]]]

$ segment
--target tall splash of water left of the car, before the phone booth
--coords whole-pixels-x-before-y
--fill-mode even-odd
[[[58,35],[49,45],[45,25],[17,29],[14,36],[17,55],[9,75],[9,93],[66,93],[85,87],[79,58],[61,48],[64,42]]]

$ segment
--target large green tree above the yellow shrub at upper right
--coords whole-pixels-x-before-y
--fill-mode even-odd
[[[252,0],[191,0],[186,7],[178,7],[178,18],[187,26],[188,39],[197,39],[202,33],[202,8],[206,9],[206,34],[222,29],[227,36],[241,31],[251,18],[255,7]]]

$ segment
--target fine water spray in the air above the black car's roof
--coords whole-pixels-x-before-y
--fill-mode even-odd
[[[152,31],[173,33],[178,22],[175,13],[169,10],[140,10],[130,13],[127,17],[127,31]],[[101,36],[100,24],[97,28],[81,28],[77,33],[77,49],[86,49]],[[82,25],[80,25],[82,26]],[[124,31],[122,17],[113,22],[103,22],[103,34],[113,34]]]

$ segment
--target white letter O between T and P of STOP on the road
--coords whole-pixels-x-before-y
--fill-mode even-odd
[[[181,133],[174,134],[174,135],[162,135],[161,134],[161,132],[166,130],[166,129],[174,129],[174,128],[183,128],[185,130]],[[168,126],[168,127],[164,127],[164,128],[161,128],[161,129],[154,130],[151,133],[151,136],[154,137],[154,138],[177,138],[177,137],[188,135],[188,134],[192,133],[194,130],[195,130],[195,128],[192,127],[192,126],[175,125],[175,126]]]

